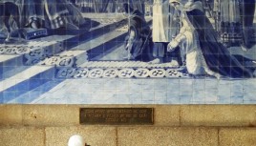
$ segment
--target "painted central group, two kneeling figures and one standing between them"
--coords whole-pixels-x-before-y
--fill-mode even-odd
[[[164,62],[166,56],[170,56],[171,60],[176,60],[193,75],[207,74],[217,78],[253,77],[254,69],[246,68],[244,62],[240,61],[248,59],[239,56],[243,59],[238,60],[220,41],[218,31],[205,15],[203,2],[155,0],[152,31],[144,25],[146,22],[139,11],[130,8],[132,16],[125,45],[130,52],[128,58],[147,58],[152,60],[149,63],[158,64]],[[232,9],[229,9],[229,14],[230,12],[232,13]],[[243,31],[248,34],[246,27],[247,25]]]

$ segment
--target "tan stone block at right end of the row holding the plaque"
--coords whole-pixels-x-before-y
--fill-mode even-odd
[[[184,105],[181,126],[255,126],[256,105]]]

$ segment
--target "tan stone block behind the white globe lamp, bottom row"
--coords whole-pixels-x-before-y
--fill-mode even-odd
[[[67,145],[69,137],[73,135],[83,136],[88,145],[117,146],[117,129],[101,126],[48,127],[46,128],[46,146]]]

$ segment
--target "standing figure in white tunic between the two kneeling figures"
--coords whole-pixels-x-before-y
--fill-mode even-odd
[[[170,6],[168,0],[154,0],[152,39],[153,56],[156,59],[150,63],[157,64],[163,61],[168,43],[179,31],[179,16],[178,10]],[[180,58],[180,51],[174,52],[173,57]]]

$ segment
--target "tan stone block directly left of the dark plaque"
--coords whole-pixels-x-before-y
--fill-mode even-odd
[[[79,124],[79,108],[73,105],[26,105],[26,126],[73,126]]]

